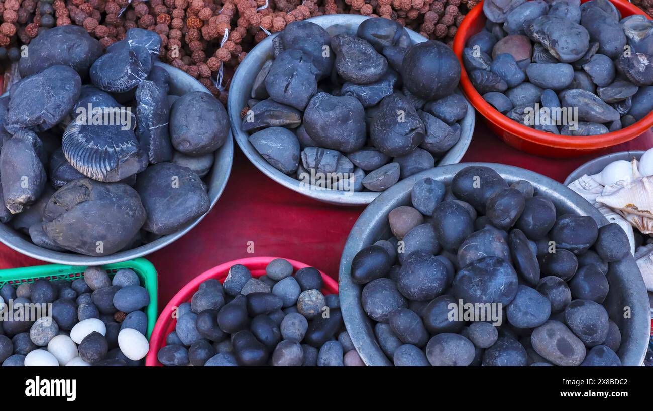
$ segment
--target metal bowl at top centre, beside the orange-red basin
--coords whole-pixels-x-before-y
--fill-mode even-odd
[[[322,27],[329,27],[334,24],[344,25],[349,29],[349,32],[354,35],[358,28],[358,25],[366,20],[366,16],[356,16],[354,14],[328,14],[325,16],[317,16],[308,19],[309,22],[313,22],[321,25]],[[409,30],[408,33],[413,40],[413,44],[423,42],[428,40],[426,37],[416,33],[415,31]],[[261,67],[266,60],[273,58],[272,53],[272,38],[274,38],[278,33],[274,33],[271,36],[268,36],[265,40],[257,44],[251,52],[247,53],[247,57],[243,60],[242,63],[238,66],[236,74],[231,82],[231,87],[229,88],[229,101],[227,102],[227,108],[229,109],[229,120],[231,121],[231,130],[236,138],[236,143],[240,146],[240,149],[245,153],[247,158],[263,172],[277,183],[287,187],[291,190],[295,190],[305,196],[315,198],[316,200],[321,200],[330,204],[336,204],[340,206],[362,206],[364,204],[370,204],[379,193],[378,192],[349,192],[349,191],[340,191],[340,190],[315,190],[311,187],[306,187],[300,184],[300,181],[297,179],[285,175],[276,168],[274,168],[270,163],[268,163],[263,156],[259,154],[258,151],[254,148],[253,145],[247,140],[249,134],[242,130],[242,119],[240,118],[241,110],[247,106],[247,100],[250,99],[251,95],[251,86],[256,78],[256,75],[261,71]],[[460,91],[456,90],[456,93],[460,94]],[[462,95],[462,94],[461,94]],[[462,121],[460,121],[460,140],[447,151],[447,153],[438,160],[436,166],[442,166],[445,164],[454,164],[459,162],[462,159],[462,156],[467,151],[471,142],[471,136],[474,132],[475,124],[475,112],[474,108],[471,106],[470,102],[467,102],[468,110],[467,115]]]

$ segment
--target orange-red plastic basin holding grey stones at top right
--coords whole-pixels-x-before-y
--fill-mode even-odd
[[[581,0],[581,3],[585,3],[585,1],[588,0]],[[611,1],[623,17],[630,16],[631,14],[644,14],[650,19],[650,16],[646,15],[643,10],[628,1]],[[463,93],[470,100],[471,105],[481,114],[490,130],[502,138],[507,144],[537,155],[548,157],[577,157],[611,147],[612,145],[627,142],[645,134],[645,132],[649,132],[651,127],[653,127],[653,113],[649,113],[646,117],[637,121],[637,123],[626,127],[626,129],[598,136],[573,137],[530,129],[525,125],[509,119],[483,100],[483,97],[471,85],[470,78],[462,64],[462,50],[465,48],[468,38],[479,33],[485,27],[485,22],[483,1],[481,1],[476,7],[471,9],[460,24],[460,27],[458,27],[458,31],[456,31],[456,36],[453,40],[453,50],[458,56],[460,67],[462,68],[460,85]]]

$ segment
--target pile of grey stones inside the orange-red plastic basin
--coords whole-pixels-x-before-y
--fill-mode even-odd
[[[653,110],[653,22],[608,0],[488,0],[463,62],[498,112],[527,127],[592,136]],[[577,112],[575,112],[577,110]]]

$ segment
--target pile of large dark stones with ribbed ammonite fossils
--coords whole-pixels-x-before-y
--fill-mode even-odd
[[[104,52],[83,27],[40,32],[0,99],[0,222],[44,249],[107,256],[210,208],[202,177],[229,136],[209,93],[169,95],[161,37]]]

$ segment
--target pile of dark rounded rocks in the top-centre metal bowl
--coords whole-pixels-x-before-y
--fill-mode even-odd
[[[325,189],[383,191],[460,138],[460,64],[436,40],[369,18],[355,33],[293,22],[274,38],[242,130],[280,172]]]

